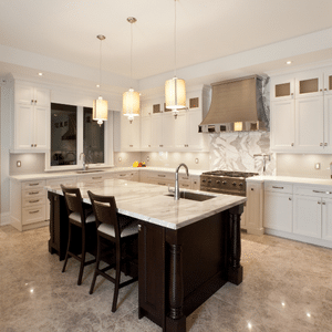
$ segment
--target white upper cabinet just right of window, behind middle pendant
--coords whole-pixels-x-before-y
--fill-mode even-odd
[[[113,129],[115,152],[141,151],[141,116],[131,123],[122,113],[115,112]]]

